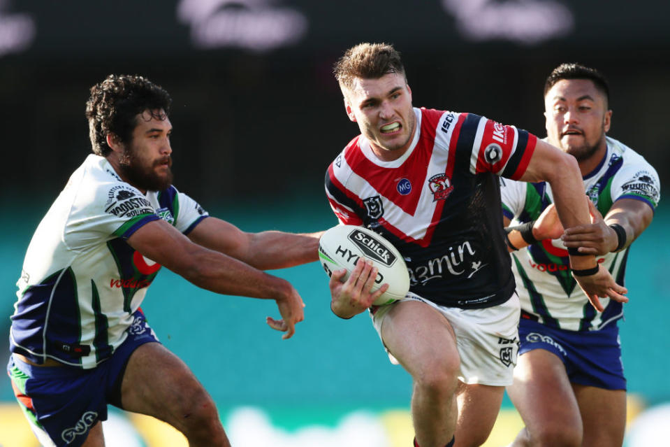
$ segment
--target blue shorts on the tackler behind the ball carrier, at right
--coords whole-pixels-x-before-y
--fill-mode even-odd
[[[625,390],[626,378],[621,362],[621,343],[616,324],[599,331],[566,331],[546,327],[533,320],[519,322],[519,355],[533,349],[558,355],[570,383],[606,390]]]

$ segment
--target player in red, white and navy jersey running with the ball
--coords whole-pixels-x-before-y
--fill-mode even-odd
[[[569,228],[589,222],[577,163],[516,127],[413,108],[391,45],[350,48],[335,76],[361,135],[328,167],[326,193],[341,223],[374,229],[407,262],[407,298],[371,313],[391,360],[414,381],[414,445],[479,446],[512,382],[518,343],[499,176],[547,180]],[[590,299],[626,300],[593,255],[573,253],[570,261]],[[351,318],[386,286],[370,293],[377,272],[368,262],[341,283],[344,273],[331,276],[331,308]]]

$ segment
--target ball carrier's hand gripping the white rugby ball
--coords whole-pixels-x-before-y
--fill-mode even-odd
[[[356,262],[356,267],[344,283],[342,280],[347,270],[333,271],[328,283],[333,313],[341,318],[351,318],[372,306],[374,300],[388,289],[388,284],[383,284],[377,291],[370,292],[377,272],[377,267],[372,267],[372,261],[363,258]]]

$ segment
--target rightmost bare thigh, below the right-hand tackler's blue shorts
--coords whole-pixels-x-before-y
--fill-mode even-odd
[[[625,390],[573,385],[584,426],[584,446],[621,446],[626,425]]]

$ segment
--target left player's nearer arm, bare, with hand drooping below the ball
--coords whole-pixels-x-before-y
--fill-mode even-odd
[[[224,295],[274,299],[282,319],[268,318],[267,322],[272,329],[286,332],[284,339],[293,335],[296,323],[304,318],[305,304],[288,281],[200,246],[163,220],[143,225],[129,237],[128,243],[145,257],[203,289]]]

